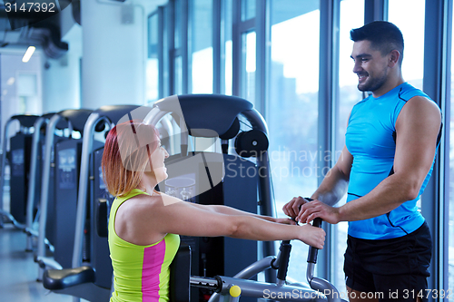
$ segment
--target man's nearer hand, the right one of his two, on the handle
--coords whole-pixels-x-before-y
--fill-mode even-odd
[[[301,206],[301,211],[296,217],[296,220],[301,223],[309,223],[317,217],[320,217],[331,224],[336,224],[341,221],[339,208],[331,207],[320,200],[304,203]]]

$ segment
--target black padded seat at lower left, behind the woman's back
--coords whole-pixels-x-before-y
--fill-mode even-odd
[[[46,269],[43,275],[43,286],[50,290],[74,287],[84,283],[94,283],[95,274],[91,267]]]

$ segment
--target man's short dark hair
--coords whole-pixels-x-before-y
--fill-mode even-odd
[[[400,64],[403,58],[403,36],[400,29],[386,21],[374,21],[350,31],[350,39],[354,42],[370,41],[373,49],[382,55],[390,54],[392,50],[400,52]]]

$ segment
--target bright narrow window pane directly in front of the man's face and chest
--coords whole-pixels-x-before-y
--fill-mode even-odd
[[[364,0],[343,0],[341,1],[340,19],[340,52],[339,52],[339,100],[337,112],[335,112],[336,134],[335,134],[335,157],[336,161],[345,145],[345,132],[350,116],[351,108],[362,99],[362,93],[358,90],[358,76],[353,73],[353,62],[350,54],[353,42],[350,40],[350,30],[361,27],[364,22]],[[358,17],[360,16],[360,17]],[[346,196],[338,203],[341,206],[346,201]],[[332,252],[332,282],[341,293],[346,292],[345,276],[343,273],[343,255],[347,248],[348,223],[341,222],[332,227],[333,231],[333,252]]]

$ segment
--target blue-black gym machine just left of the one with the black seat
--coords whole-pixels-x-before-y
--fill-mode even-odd
[[[38,280],[42,279],[44,268],[71,267],[82,143],[80,139],[71,139],[71,133],[84,132],[84,123],[91,112],[85,109],[64,110],[55,113],[46,126],[38,248],[35,257],[35,262],[39,265]],[[57,142],[53,134],[62,121],[67,124],[65,131],[69,132],[70,139]],[[47,256],[46,238],[53,238],[53,257]]]

